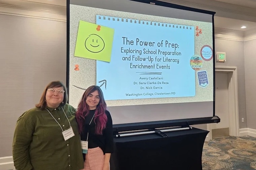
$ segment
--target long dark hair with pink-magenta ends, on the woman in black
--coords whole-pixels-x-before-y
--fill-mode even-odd
[[[83,94],[75,114],[80,133],[82,133],[84,128],[85,117],[89,114],[90,111],[89,106],[86,103],[86,98],[95,91],[98,91],[100,97],[100,101],[95,110],[95,115],[93,119],[95,122],[95,133],[102,134],[102,130],[106,128],[107,115],[105,114],[105,110],[107,108],[107,104],[104,100],[103,93],[99,86],[90,86]]]

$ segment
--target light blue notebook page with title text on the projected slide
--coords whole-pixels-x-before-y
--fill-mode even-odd
[[[96,16],[113,28],[110,62],[96,61],[105,100],[195,96],[194,27]]]

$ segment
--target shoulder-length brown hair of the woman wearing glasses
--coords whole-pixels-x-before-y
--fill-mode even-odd
[[[67,95],[67,88],[66,86],[61,82],[61,81],[52,81],[50,82],[45,89],[43,90],[43,93],[41,95],[41,99],[38,104],[36,104],[36,107],[40,110],[44,110],[46,108],[46,102],[45,102],[45,95],[46,91],[51,88],[59,88],[63,87],[64,89],[64,98],[63,98],[63,103],[60,104],[60,106],[64,106],[68,102],[68,95]]]

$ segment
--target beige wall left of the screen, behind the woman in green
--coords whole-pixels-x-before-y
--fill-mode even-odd
[[[52,80],[66,83],[66,22],[0,14],[0,157],[11,156],[18,117]]]

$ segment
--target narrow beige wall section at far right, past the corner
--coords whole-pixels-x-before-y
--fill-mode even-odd
[[[256,129],[256,39],[245,42],[247,127]]]

